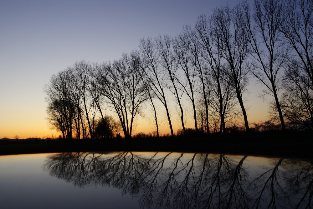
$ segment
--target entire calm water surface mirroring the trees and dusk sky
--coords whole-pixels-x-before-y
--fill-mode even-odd
[[[312,208],[313,160],[177,152],[0,156],[0,208]]]

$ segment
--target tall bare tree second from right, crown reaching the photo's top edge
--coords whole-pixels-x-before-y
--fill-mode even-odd
[[[252,57],[251,72],[266,89],[260,96],[269,94],[274,97],[282,130],[285,122],[278,98],[280,86],[280,71],[286,61],[288,49],[282,41],[280,32],[283,12],[281,0],[255,0],[253,14],[247,2],[237,7],[238,17],[249,40]]]

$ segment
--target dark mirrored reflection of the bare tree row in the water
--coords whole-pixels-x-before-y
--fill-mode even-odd
[[[84,188],[114,187],[142,208],[312,208],[313,163],[268,158],[259,172],[248,156],[185,153],[61,153],[43,166]]]

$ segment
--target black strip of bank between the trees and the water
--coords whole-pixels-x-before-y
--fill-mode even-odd
[[[52,152],[209,152],[313,159],[312,134],[228,135],[86,141],[37,141],[0,144],[0,154]]]

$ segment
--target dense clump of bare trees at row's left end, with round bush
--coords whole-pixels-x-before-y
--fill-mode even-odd
[[[110,138],[120,133],[120,126],[111,116],[102,112],[93,73],[95,65],[84,60],[73,67],[51,76],[44,87],[48,103],[48,121],[60,131],[63,138]]]

